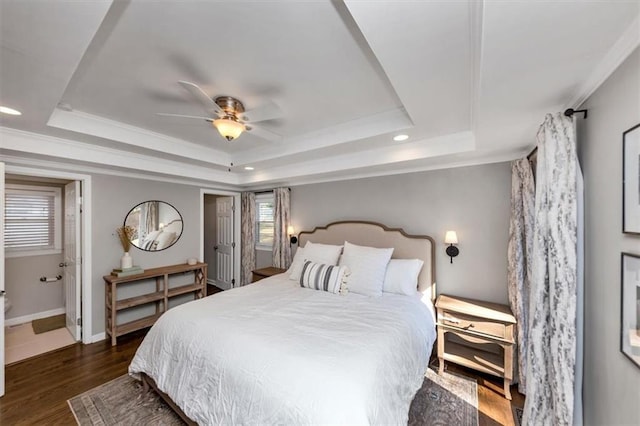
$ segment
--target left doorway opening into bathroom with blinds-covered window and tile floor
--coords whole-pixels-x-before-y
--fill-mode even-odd
[[[5,364],[80,340],[80,182],[5,176]],[[78,284],[78,285],[77,285]]]

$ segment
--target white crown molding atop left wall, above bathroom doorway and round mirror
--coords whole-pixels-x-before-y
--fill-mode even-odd
[[[234,173],[211,170],[191,164],[187,165],[178,161],[144,154],[124,152],[7,127],[0,127],[0,136],[2,137],[3,149],[12,151],[135,170],[136,173],[141,175],[144,172],[148,172],[150,174],[180,176],[191,180],[217,182],[232,186],[238,184],[238,175]],[[68,168],[69,164],[66,167]],[[80,166],[73,164],[73,167],[75,169]]]

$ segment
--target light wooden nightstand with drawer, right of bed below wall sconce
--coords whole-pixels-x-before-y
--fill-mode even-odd
[[[497,303],[438,296],[439,373],[450,361],[504,379],[504,394],[511,399],[515,324],[511,309]]]

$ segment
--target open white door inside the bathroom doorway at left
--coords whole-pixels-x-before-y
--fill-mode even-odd
[[[75,340],[81,339],[80,285],[80,182],[64,187],[64,298],[67,329]]]

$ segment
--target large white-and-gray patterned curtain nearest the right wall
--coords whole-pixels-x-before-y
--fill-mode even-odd
[[[527,398],[523,424],[573,424],[576,362],[577,155],[573,120],[547,114],[537,135]]]

